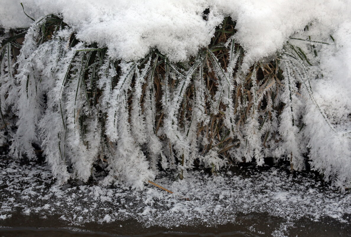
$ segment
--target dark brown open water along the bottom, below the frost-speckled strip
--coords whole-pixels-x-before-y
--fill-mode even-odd
[[[178,226],[164,228],[148,226],[137,220],[125,220],[113,223],[88,223],[75,228],[52,216],[42,219],[39,216],[25,216],[20,213],[1,222],[0,237],[349,237],[351,225],[340,223],[332,218],[319,222],[300,219],[290,225],[281,225],[284,219],[268,216],[265,213],[240,214],[234,223],[208,227],[199,222],[196,226]],[[4,227],[7,226],[7,227]],[[78,229],[79,228],[79,229]],[[282,228],[281,232],[275,232]]]

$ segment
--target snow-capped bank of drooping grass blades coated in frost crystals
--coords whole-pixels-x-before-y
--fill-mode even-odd
[[[349,1],[22,2],[0,8],[0,142],[61,183],[273,157],[351,186]]]

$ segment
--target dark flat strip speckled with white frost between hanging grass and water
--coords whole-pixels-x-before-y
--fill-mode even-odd
[[[154,182],[174,192],[170,194],[152,185],[143,192],[79,181],[55,186],[48,167],[23,165],[6,156],[1,157],[0,167],[0,226],[18,212],[43,219],[57,216],[76,228],[130,219],[146,227],[216,226],[238,222],[243,214],[260,213],[257,218],[263,214],[280,220],[266,234],[284,236],[301,218],[318,222],[327,217],[347,226],[351,217],[350,192],[341,194],[308,175],[294,178],[280,168],[243,171],[237,167],[223,176],[191,172],[183,181],[157,178]]]

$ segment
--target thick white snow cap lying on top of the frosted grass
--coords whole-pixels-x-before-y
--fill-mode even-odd
[[[274,54],[287,39],[311,21],[320,29],[338,29],[350,23],[348,0],[2,0],[0,25],[5,28],[28,26],[27,14],[39,19],[62,13],[78,38],[107,46],[112,57],[126,60],[143,58],[157,48],[175,61],[195,55],[210,43],[214,29],[224,17],[237,22],[236,39],[251,62]],[[3,7],[5,6],[5,7]],[[207,20],[203,12],[210,9]],[[4,17],[5,16],[5,17]]]

